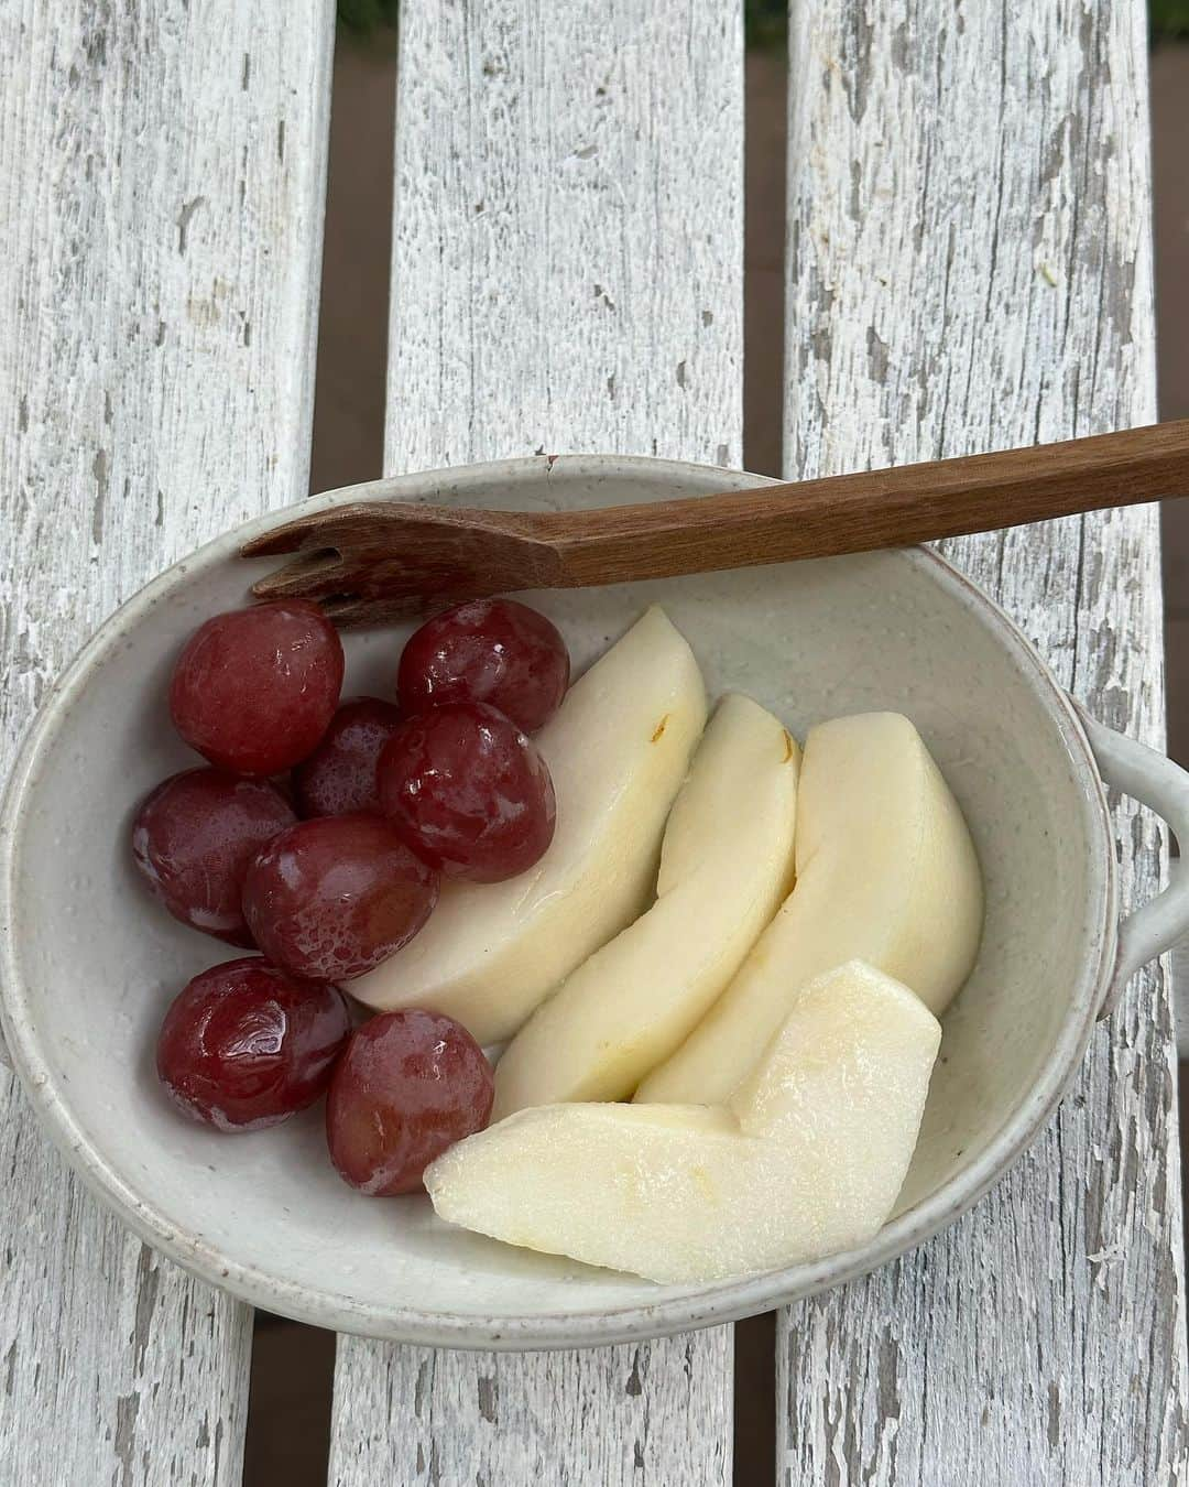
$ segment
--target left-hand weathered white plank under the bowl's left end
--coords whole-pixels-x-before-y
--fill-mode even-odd
[[[116,604],[305,492],[331,28],[0,3],[0,772]],[[103,1212],[3,1071],[0,1173],[0,1483],[238,1483],[248,1309]]]

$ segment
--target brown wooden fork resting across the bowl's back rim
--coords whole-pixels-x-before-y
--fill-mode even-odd
[[[355,501],[256,537],[297,553],[260,599],[318,599],[343,625],[465,598],[574,589],[904,547],[1189,494],[1189,419],[825,480],[586,512]]]

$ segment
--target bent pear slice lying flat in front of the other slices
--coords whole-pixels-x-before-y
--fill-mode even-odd
[[[801,989],[730,1106],[525,1109],[425,1185],[452,1224],[651,1280],[820,1259],[892,1212],[939,1042],[920,998],[853,962]]]

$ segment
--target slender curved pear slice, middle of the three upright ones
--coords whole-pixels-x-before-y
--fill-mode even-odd
[[[690,1033],[792,883],[800,755],[759,703],[719,703],[669,816],[657,901],[513,1038],[495,1071],[493,1120],[623,1099]]]

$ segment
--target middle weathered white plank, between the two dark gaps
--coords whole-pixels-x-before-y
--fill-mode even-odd
[[[406,3],[389,471],[739,461],[742,88],[736,3]],[[715,1487],[731,1329],[523,1356],[342,1338],[333,1430],[337,1487]]]

